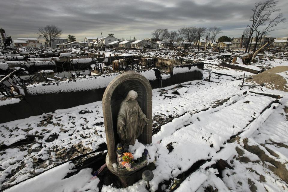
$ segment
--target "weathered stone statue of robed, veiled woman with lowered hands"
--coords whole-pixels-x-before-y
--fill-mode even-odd
[[[148,122],[136,100],[137,97],[136,91],[129,91],[118,113],[117,133],[125,148],[135,144],[135,140],[142,134]]]

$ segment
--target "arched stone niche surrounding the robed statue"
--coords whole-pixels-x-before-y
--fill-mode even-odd
[[[129,71],[122,73],[113,79],[107,86],[102,100],[109,158],[109,162],[107,162],[108,168],[112,167],[112,164],[117,162],[116,145],[120,141],[117,134],[117,115],[120,104],[131,90],[137,92],[137,102],[143,113],[149,119],[143,128],[143,133],[138,137],[138,140],[143,144],[152,143],[151,85],[148,79],[138,72]]]

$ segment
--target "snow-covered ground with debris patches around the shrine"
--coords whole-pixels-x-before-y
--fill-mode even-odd
[[[265,87],[239,88],[243,71],[217,66],[219,60],[216,58],[208,61],[210,64],[204,66],[203,80],[153,89],[152,143],[160,144],[154,179],[150,182],[152,191],[157,190],[159,184],[160,190],[169,191],[173,180],[179,179],[199,160],[205,163],[183,178],[176,191],[287,191],[287,93]],[[280,62],[283,60],[273,59],[262,65],[274,67]],[[211,82],[204,80],[208,79],[209,73]],[[250,75],[245,72],[245,76]],[[187,91],[175,94],[181,87]],[[275,98],[250,91],[282,95],[283,98],[272,104]],[[95,150],[106,142],[101,101],[50,114],[53,116],[43,114],[0,124],[0,142],[6,145],[24,139],[27,134],[44,136],[36,138],[32,144],[0,152],[2,186],[81,155],[76,146]],[[168,120],[171,121],[167,123]],[[58,138],[46,142],[54,132],[59,134]],[[240,137],[230,140],[234,135]],[[222,179],[216,176],[219,172],[213,167],[220,158],[234,168],[223,170]],[[25,191],[31,183],[41,181],[50,183],[44,182],[42,188],[36,186],[34,191],[99,190],[99,179],[90,180],[93,177],[91,169],[83,169],[63,179],[72,171],[73,164],[62,164],[7,191]],[[55,177],[55,173],[59,175]],[[30,191],[33,190],[30,188]],[[145,182],[140,180],[126,189],[104,185],[102,191],[147,190]]]

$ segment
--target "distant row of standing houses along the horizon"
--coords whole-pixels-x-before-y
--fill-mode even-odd
[[[288,37],[283,38],[273,38],[273,37],[263,37],[260,39],[259,42],[257,42],[257,47],[262,46],[266,42],[269,42],[269,44],[272,44],[274,46],[286,46]],[[242,41],[242,43],[241,43]],[[16,47],[42,47],[42,43],[39,43],[39,41],[36,38],[17,38],[17,40],[14,40],[14,44]],[[45,42],[46,44],[46,42]],[[204,39],[201,39],[199,41],[200,46],[205,46],[206,41]],[[256,39],[252,38],[252,41],[249,42],[251,46],[256,44]],[[98,37],[86,37],[85,41],[82,42],[68,42],[65,38],[57,38],[53,39],[51,42],[52,48],[72,48],[72,47],[101,47],[107,46],[107,47],[122,47],[122,48],[135,48],[135,49],[144,49],[144,48],[166,48],[170,46],[188,46],[190,45],[187,41],[174,41],[170,43],[169,41],[160,41],[157,38],[147,38],[143,40],[125,40],[121,41],[119,38],[115,38],[113,36],[106,36],[104,38],[98,38]],[[193,46],[194,43],[192,42],[191,45]],[[209,45],[208,45],[209,46]],[[244,46],[243,40],[241,38],[233,38],[231,42],[220,42],[217,43],[215,40],[211,43],[211,47],[219,46],[220,48],[224,47],[230,47],[230,48],[240,48]]]

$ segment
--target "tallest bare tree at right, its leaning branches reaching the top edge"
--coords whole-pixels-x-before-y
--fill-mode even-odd
[[[250,41],[253,33],[256,31],[256,29],[259,26],[262,26],[264,22],[268,19],[270,15],[267,14],[270,11],[274,10],[274,7],[276,6],[278,1],[274,0],[267,0],[265,2],[259,2],[255,3],[254,7],[252,9],[252,16],[250,17],[249,21],[252,21],[252,25],[248,25],[247,27],[250,28],[250,33],[248,37],[248,42]],[[245,53],[247,52],[248,44],[246,45]],[[250,48],[249,50],[250,51]]]

